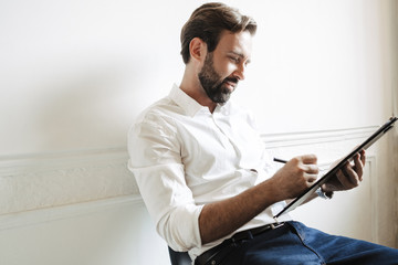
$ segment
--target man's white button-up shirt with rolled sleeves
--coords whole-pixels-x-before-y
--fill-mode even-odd
[[[234,197],[275,171],[247,110],[229,100],[211,114],[176,85],[138,117],[128,134],[128,168],[157,232],[192,259],[231,236],[201,244],[202,206]],[[283,205],[268,208],[235,232],[273,223]],[[287,214],[279,219],[287,220]]]

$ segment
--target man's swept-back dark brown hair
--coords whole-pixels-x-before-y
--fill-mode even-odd
[[[205,3],[193,11],[181,30],[181,55],[184,63],[190,59],[189,43],[193,38],[206,42],[208,52],[216,50],[223,30],[231,32],[249,31],[255,34],[255,21],[223,3]]]

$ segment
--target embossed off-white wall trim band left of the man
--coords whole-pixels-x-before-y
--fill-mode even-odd
[[[0,215],[139,194],[125,149],[0,160]]]

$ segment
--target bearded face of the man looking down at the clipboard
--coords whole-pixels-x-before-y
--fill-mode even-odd
[[[207,96],[214,103],[226,103],[244,80],[244,70],[250,62],[251,34],[249,32],[223,32],[216,50],[207,53],[198,74]]]

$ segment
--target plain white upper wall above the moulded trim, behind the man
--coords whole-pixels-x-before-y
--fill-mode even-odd
[[[3,1],[0,153],[124,147],[137,112],[179,82],[179,31],[200,2]],[[229,2],[259,23],[234,98],[265,134],[390,115],[394,1]]]

